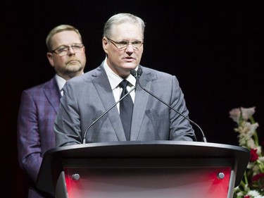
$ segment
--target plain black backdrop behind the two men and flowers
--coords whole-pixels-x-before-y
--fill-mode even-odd
[[[105,56],[103,23],[120,12],[146,22],[142,65],[177,76],[189,116],[208,142],[238,144],[229,111],[240,106],[256,106],[264,140],[264,1],[1,2],[1,197],[26,195],[16,119],[23,89],[54,76],[46,35],[56,25],[77,27],[86,47],[85,71],[92,70]]]

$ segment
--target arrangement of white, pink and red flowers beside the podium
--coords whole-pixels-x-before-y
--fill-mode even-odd
[[[230,118],[237,123],[234,132],[238,132],[239,146],[246,147],[251,152],[251,159],[239,186],[234,188],[234,198],[263,198],[264,197],[264,156],[258,143],[258,123],[251,108],[237,108],[230,111]]]

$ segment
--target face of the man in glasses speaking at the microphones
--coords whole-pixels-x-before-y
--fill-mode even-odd
[[[103,37],[103,49],[108,55],[107,63],[114,73],[125,78],[130,75],[130,70],[139,66],[141,61],[142,29],[139,25],[122,23],[113,27],[111,35],[111,38]],[[127,42],[129,44],[126,45]]]

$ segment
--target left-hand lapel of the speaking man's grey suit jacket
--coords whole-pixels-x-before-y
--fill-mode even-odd
[[[111,106],[113,106],[113,104],[115,104],[115,99],[113,97],[113,92],[108,81],[106,71],[102,66],[98,71],[98,75],[94,76],[93,83],[99,94],[99,97],[101,98],[105,111],[107,111],[109,108],[111,108]],[[122,128],[121,119],[118,113],[118,108],[116,106],[108,111],[108,118],[111,122],[113,130],[115,130],[115,134],[117,135],[118,140],[125,141],[125,132]]]

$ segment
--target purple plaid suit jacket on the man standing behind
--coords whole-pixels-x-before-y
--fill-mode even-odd
[[[47,197],[34,183],[44,153],[55,147],[54,120],[60,99],[55,77],[22,93],[18,113],[18,161],[32,181],[28,197]]]

